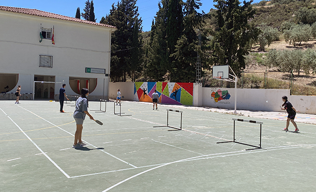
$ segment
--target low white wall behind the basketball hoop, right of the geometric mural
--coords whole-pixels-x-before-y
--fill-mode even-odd
[[[229,100],[216,103],[211,97],[213,91],[228,90],[231,95]],[[288,89],[237,89],[237,110],[278,111],[284,103],[282,97],[286,95],[289,102],[301,113],[316,114],[316,97],[290,95]],[[203,87],[203,106],[213,108],[234,109],[234,88],[209,88]]]

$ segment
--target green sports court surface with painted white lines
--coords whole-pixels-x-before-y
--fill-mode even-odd
[[[73,149],[73,102],[0,101],[0,191],[315,191],[315,125],[123,102],[84,122]],[[102,103],[102,110],[104,110]],[[99,102],[89,102],[98,110]],[[182,130],[166,125],[180,110]],[[120,106],[116,106],[120,113]],[[123,114],[124,113],[124,114]],[[127,116],[129,115],[129,116]],[[180,113],[169,125],[180,127]],[[261,121],[235,122],[232,118]],[[292,124],[290,129],[294,130]],[[169,131],[172,130],[172,131]],[[254,150],[248,150],[254,149]]]

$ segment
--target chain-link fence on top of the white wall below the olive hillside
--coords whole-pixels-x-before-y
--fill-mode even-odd
[[[290,89],[294,95],[316,95],[316,79],[309,75],[278,71],[243,72],[237,82],[238,88]],[[233,88],[233,82],[208,79],[206,87]]]

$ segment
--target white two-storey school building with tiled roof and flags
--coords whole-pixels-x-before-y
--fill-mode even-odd
[[[58,99],[62,83],[68,95],[89,88],[90,100],[107,99],[114,30],[54,13],[0,6],[0,100],[10,99],[18,85],[27,93],[24,99]]]

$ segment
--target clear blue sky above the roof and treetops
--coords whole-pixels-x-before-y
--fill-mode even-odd
[[[83,12],[85,8],[85,2],[87,0],[52,0],[52,1],[38,1],[38,0],[0,0],[0,6],[19,7],[28,9],[37,9],[41,11],[56,13],[59,15],[75,17],[75,13],[78,7]],[[112,4],[117,5],[117,2],[121,0],[94,0],[94,14],[97,22],[109,14]],[[255,3],[261,0],[255,0]],[[138,12],[143,20],[143,31],[149,31],[151,29],[151,22],[154,19],[158,11],[159,0],[138,0],[136,5],[138,6]],[[198,10],[208,13],[210,9],[214,8],[213,0],[201,0],[203,5]],[[243,2],[240,0],[240,2]]]

